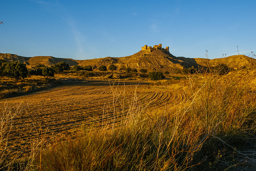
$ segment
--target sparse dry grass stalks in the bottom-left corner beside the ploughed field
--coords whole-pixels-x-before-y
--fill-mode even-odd
[[[15,138],[11,135],[13,131],[13,119],[18,117],[21,111],[20,106],[13,111],[8,107],[7,102],[4,103],[4,110],[0,116],[0,170],[26,171],[35,168],[33,166],[35,156],[46,142],[43,134],[39,137],[42,130],[36,130],[38,131],[38,137],[35,141],[30,142],[30,151],[13,147],[13,144],[17,143]],[[24,158],[23,155],[26,157]]]

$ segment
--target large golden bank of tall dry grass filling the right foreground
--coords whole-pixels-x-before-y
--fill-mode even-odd
[[[202,149],[218,148],[212,140],[254,129],[255,120],[248,122],[256,109],[250,79],[241,73],[189,75],[181,79],[179,102],[164,107],[111,86],[113,101],[105,105],[101,122],[56,142],[37,164],[42,170],[195,169],[211,155]]]

